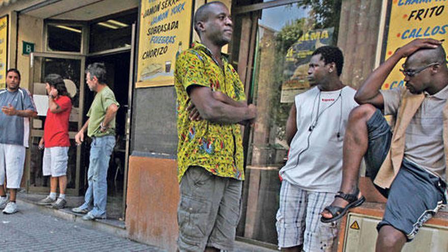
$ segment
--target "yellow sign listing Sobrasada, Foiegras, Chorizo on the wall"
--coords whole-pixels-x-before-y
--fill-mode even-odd
[[[191,0],[142,0],[136,88],[174,85],[177,55],[188,48]]]

